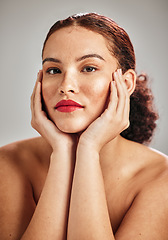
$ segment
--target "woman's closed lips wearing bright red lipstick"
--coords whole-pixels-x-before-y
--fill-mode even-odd
[[[83,106],[73,100],[61,100],[55,106],[55,109],[59,112],[73,112],[81,108],[83,108]]]

